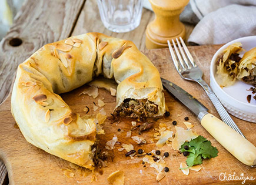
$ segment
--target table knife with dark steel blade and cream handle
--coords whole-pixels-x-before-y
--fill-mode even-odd
[[[184,89],[161,78],[162,85],[191,110],[201,125],[234,157],[248,166],[256,165],[256,147],[222,120],[208,113],[208,109]]]

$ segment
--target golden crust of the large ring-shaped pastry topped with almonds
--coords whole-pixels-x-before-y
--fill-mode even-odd
[[[82,119],[57,95],[95,76],[115,79],[117,107],[125,99],[148,99],[165,112],[158,70],[134,43],[87,33],[49,43],[18,66],[11,110],[25,139],[48,153],[94,169],[94,119]],[[116,108],[117,108],[116,107]]]

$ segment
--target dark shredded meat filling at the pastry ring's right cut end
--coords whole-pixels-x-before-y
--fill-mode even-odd
[[[115,115],[121,117],[132,117],[134,119],[145,120],[158,113],[158,105],[148,99],[125,99],[115,110]]]

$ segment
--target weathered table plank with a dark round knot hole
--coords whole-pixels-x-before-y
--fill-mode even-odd
[[[0,42],[0,103],[8,96],[19,63],[46,43],[71,35],[85,0],[26,0]],[[19,40],[22,43],[18,45]],[[10,43],[12,45],[10,45]]]

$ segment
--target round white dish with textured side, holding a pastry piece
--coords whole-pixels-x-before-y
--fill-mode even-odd
[[[241,42],[242,48],[248,51],[256,47],[256,36],[235,39],[218,49],[211,60],[210,85],[215,95],[231,115],[248,122],[256,123],[256,100],[251,98],[251,103],[247,102],[247,95],[252,95],[251,91],[248,91],[252,85],[237,80],[234,85],[221,89],[220,85],[218,85],[215,80],[217,72],[216,60],[218,55],[220,55],[227,46],[235,42]],[[241,52],[241,56],[243,54],[244,52]]]

